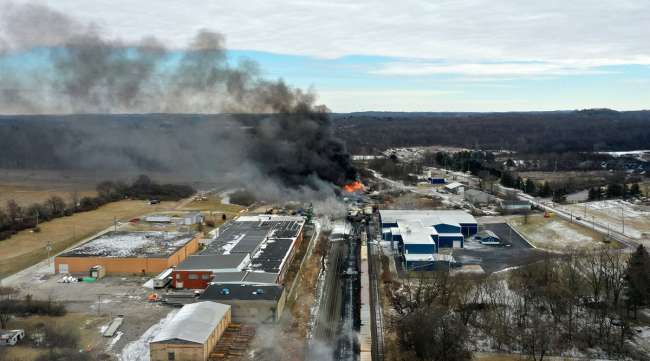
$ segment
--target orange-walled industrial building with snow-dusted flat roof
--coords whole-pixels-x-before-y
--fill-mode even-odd
[[[199,248],[198,236],[180,232],[108,232],[54,258],[61,274],[158,274],[177,266]]]

